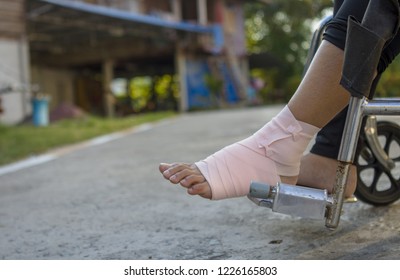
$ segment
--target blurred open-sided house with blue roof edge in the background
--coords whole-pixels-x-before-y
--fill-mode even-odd
[[[179,110],[246,98],[244,0],[0,0],[0,122],[73,104],[113,116],[116,78],[176,74]],[[37,92],[36,92],[37,91]],[[1,93],[3,92],[3,93]]]

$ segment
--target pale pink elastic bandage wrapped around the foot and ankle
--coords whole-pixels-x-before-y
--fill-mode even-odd
[[[211,187],[212,199],[245,196],[251,181],[275,185],[280,176],[298,175],[301,156],[318,130],[297,121],[286,106],[249,138],[195,164]]]

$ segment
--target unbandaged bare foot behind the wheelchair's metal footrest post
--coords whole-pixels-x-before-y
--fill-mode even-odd
[[[327,189],[332,192],[336,179],[337,161],[316,154],[307,154],[301,159],[297,184],[311,188]],[[351,197],[357,186],[357,169],[350,167],[345,197]]]

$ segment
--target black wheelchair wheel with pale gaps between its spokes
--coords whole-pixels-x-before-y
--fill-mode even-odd
[[[400,126],[379,121],[377,130],[379,142],[395,167],[387,170],[379,163],[361,132],[354,160],[358,175],[355,196],[368,204],[384,206],[400,198]]]

